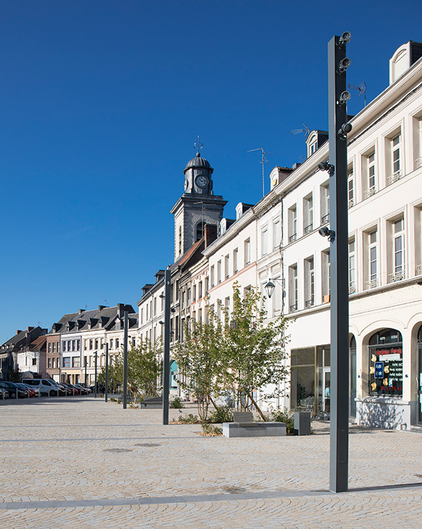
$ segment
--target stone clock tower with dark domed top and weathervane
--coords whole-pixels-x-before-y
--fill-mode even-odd
[[[187,162],[183,170],[185,192],[173,206],[174,215],[174,261],[200,240],[204,225],[218,225],[223,217],[227,201],[213,194],[211,175],[213,168],[199,153]]]

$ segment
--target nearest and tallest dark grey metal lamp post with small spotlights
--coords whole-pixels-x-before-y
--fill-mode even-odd
[[[328,43],[328,117],[331,303],[331,409],[329,489],[347,491],[349,478],[349,277],[347,226],[347,122],[346,71],[351,61],[346,44],[351,34],[333,36]],[[321,233],[320,230],[320,234]]]

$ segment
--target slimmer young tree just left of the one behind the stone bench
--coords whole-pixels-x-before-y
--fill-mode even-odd
[[[207,420],[213,395],[222,387],[221,345],[223,325],[209,309],[207,322],[192,322],[185,326],[185,341],[174,352],[178,369],[178,384],[196,398],[200,420]]]

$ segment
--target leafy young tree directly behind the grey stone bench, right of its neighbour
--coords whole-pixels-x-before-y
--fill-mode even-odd
[[[250,289],[242,297],[239,284],[233,285],[233,311],[225,312],[224,378],[235,393],[237,409],[253,405],[263,420],[254,392],[265,401],[283,393],[280,383],[289,375],[285,366],[285,329],[283,316],[268,322],[263,297],[258,289]]]

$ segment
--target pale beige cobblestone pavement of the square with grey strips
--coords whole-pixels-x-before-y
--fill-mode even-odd
[[[161,414],[93,397],[0,401],[0,529],[422,527],[418,432],[351,427],[350,490],[333,494],[328,423],[205,438]]]

